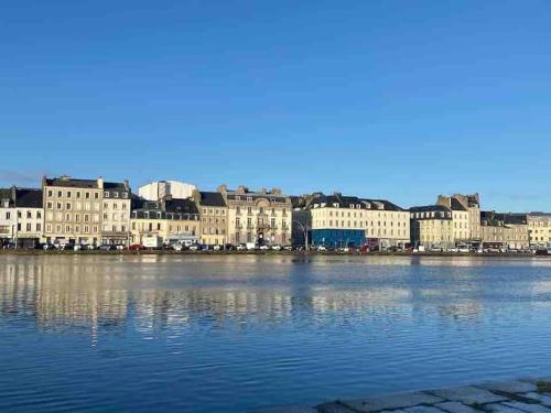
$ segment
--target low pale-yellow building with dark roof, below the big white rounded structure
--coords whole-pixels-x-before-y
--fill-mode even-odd
[[[199,213],[192,198],[134,202],[130,215],[132,243],[160,237],[164,244],[199,241]]]

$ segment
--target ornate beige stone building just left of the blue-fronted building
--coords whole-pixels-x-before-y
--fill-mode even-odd
[[[252,192],[241,185],[230,191],[226,185],[220,185],[218,192],[228,208],[230,243],[291,243],[291,197],[283,195],[281,189]]]

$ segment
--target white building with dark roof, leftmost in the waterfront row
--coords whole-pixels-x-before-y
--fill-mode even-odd
[[[0,244],[35,248],[43,241],[43,226],[41,189],[0,189]]]

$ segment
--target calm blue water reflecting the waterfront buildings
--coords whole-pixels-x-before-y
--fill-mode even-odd
[[[0,256],[0,410],[242,412],[551,368],[551,261]]]

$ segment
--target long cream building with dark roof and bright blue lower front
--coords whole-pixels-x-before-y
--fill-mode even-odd
[[[293,240],[304,243],[304,228],[313,246],[359,247],[366,243],[404,247],[410,242],[407,210],[383,199],[315,193],[293,198]]]

